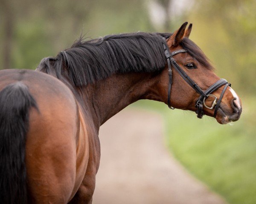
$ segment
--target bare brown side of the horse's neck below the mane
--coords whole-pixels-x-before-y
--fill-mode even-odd
[[[152,76],[152,73],[116,74],[87,85],[81,91],[81,98],[96,126],[139,99],[151,99],[151,91],[159,80]]]

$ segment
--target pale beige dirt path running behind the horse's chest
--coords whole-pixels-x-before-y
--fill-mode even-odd
[[[128,108],[100,130],[102,158],[93,204],[224,204],[167,152],[163,121]]]

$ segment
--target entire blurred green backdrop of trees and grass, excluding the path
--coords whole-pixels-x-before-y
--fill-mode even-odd
[[[133,106],[163,116],[166,147],[192,175],[230,204],[255,204],[255,0],[0,0],[0,68],[35,69],[81,33],[173,32],[185,21],[193,23],[190,39],[241,97],[241,119],[219,125],[159,102]]]

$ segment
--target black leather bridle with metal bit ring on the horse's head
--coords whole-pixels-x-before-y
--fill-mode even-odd
[[[180,74],[180,76],[196,91],[198,92],[198,94],[200,94],[201,96],[198,98],[198,100],[195,103],[195,107],[197,107],[197,110],[195,111],[195,113],[197,113],[197,117],[198,118],[202,118],[204,115],[203,112],[203,105],[205,108],[208,109],[214,109],[214,117],[216,117],[217,115],[217,111],[218,108],[220,106],[221,103],[221,99],[227,89],[228,86],[231,86],[230,83],[227,82],[226,79],[220,79],[217,82],[215,82],[213,85],[211,85],[206,91],[203,91],[187,74],[185,71],[183,71],[183,69],[180,68],[180,66],[177,64],[177,62],[175,61],[175,59],[173,58],[173,56],[175,54],[179,54],[179,53],[184,53],[186,52],[185,49],[180,49],[180,50],[176,50],[170,53],[168,45],[166,43],[166,39],[165,37],[163,37],[164,42],[163,42],[163,49],[164,49],[164,54],[166,56],[167,59],[167,64],[168,64],[168,72],[169,72],[169,86],[168,86],[168,107],[171,109],[174,109],[171,106],[171,89],[172,89],[172,66],[175,68],[175,70]],[[216,91],[218,88],[220,88],[221,86],[224,86],[221,95],[218,99],[217,96],[213,95],[212,92]],[[212,102],[212,106],[208,107],[205,104],[205,100],[208,97],[213,97],[214,101]]]

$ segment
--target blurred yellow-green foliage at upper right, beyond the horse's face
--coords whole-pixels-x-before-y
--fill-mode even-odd
[[[217,73],[241,94],[256,96],[256,1],[195,1],[186,20],[191,39],[212,59]]]

